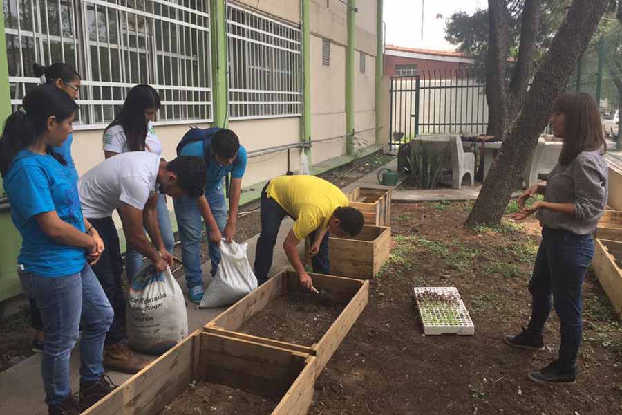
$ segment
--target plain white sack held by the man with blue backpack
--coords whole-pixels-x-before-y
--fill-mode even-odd
[[[216,276],[198,308],[229,306],[257,288],[257,278],[246,255],[247,246],[248,243],[226,243],[223,239]]]

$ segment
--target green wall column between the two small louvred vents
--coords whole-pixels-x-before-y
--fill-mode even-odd
[[[357,30],[357,2],[348,0],[348,46],[346,47],[346,154],[354,154],[354,51]]]

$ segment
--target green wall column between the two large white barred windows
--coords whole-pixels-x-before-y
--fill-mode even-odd
[[[214,127],[227,128],[227,9],[223,0],[209,0],[211,93]]]

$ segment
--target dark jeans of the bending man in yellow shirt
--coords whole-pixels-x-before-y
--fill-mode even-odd
[[[285,216],[289,216],[288,212],[285,212],[279,203],[267,197],[265,193],[266,187],[267,185],[261,191],[261,233],[259,234],[255,252],[255,276],[257,277],[257,283],[260,285],[267,281],[268,273],[270,273],[272,255],[274,254],[274,246],[279,235],[281,222],[285,219]],[[309,235],[311,243],[315,241],[317,231],[314,230]],[[311,257],[314,273],[330,274],[330,261],[328,258],[329,238],[330,234],[326,232],[321,241],[319,252]]]

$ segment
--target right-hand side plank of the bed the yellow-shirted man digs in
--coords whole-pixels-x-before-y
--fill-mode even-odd
[[[328,360],[334,354],[334,351],[337,350],[339,344],[343,341],[343,338],[346,337],[348,331],[352,329],[352,326],[355,324],[359,315],[363,312],[364,308],[367,306],[367,302],[369,299],[369,282],[365,281],[359,288],[359,291],[352,298],[350,304],[343,309],[337,320],[335,320],[328,331],[322,336],[322,338],[314,344],[312,347],[316,349],[317,356],[317,373],[319,374],[326,364]]]

